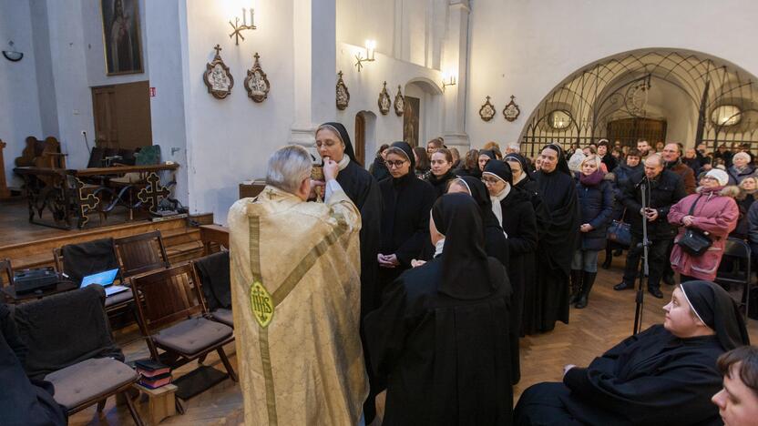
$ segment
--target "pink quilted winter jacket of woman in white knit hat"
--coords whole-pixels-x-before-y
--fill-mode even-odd
[[[716,278],[716,272],[722,261],[726,239],[732,229],[737,226],[740,212],[734,197],[740,193],[740,189],[737,187],[699,189],[700,193],[682,198],[669,211],[669,222],[681,227],[671,249],[671,269],[696,279],[712,281]],[[690,214],[693,203],[697,204],[691,215],[692,228],[708,232],[708,237],[713,241],[711,247],[697,257],[686,253],[676,244],[686,230],[681,218]]]

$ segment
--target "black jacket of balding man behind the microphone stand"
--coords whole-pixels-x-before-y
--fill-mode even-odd
[[[640,238],[642,236],[642,216],[640,215],[642,193],[638,184],[643,177],[645,177],[644,170],[632,175],[622,198],[627,208],[627,217],[630,219],[631,233]],[[667,217],[671,206],[687,196],[681,177],[670,170],[663,170],[657,179],[650,181],[648,192],[650,194],[648,207],[658,210],[658,218],[648,222],[648,238],[651,240],[674,238],[677,228],[669,223]]]

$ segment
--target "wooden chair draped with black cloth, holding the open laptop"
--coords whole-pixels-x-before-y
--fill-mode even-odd
[[[87,257],[86,267],[84,269],[78,269],[77,273],[73,273],[70,268],[67,268],[66,265],[71,265],[71,262],[67,262],[67,259],[64,257],[64,249],[67,251],[77,251],[77,250],[87,250],[88,247],[93,247],[94,245],[97,245],[97,247],[100,247],[99,250],[99,256],[100,259],[92,259],[91,254]],[[106,247],[109,246],[109,249],[106,249]],[[92,249],[87,250],[89,253],[92,253]],[[118,268],[118,257],[116,256],[116,248],[113,245],[113,238],[102,238],[102,239],[96,239],[93,241],[87,241],[80,244],[68,244],[62,248],[56,248],[53,249],[53,259],[56,261],[56,270],[58,272],[64,273],[67,276],[69,276],[71,279],[75,280],[76,282],[80,282],[82,278],[86,275],[91,274],[97,274],[97,272],[102,272],[104,270]],[[121,274],[121,269],[118,269],[118,275],[116,277],[118,280],[118,283],[121,285],[128,286],[129,283],[125,281],[124,277]],[[129,305],[134,301],[134,293],[131,289],[128,289],[126,291],[121,291],[120,293],[116,293],[108,298],[106,298],[106,312],[108,314],[112,314],[114,312],[120,311],[122,309],[128,310],[127,308]]]

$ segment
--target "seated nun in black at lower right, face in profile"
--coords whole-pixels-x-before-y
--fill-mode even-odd
[[[710,400],[722,388],[716,360],[750,344],[729,294],[710,281],[674,289],[663,324],[593,360],[564,367],[562,383],[538,383],[521,395],[514,423],[597,425],[722,424]]]

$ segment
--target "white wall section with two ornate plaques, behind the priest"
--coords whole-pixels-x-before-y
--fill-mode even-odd
[[[186,15],[181,50],[189,208],[213,212],[217,223],[226,223],[227,211],[238,198],[238,184],[265,177],[268,157],[288,142],[294,103],[299,102],[293,95],[292,2],[256,2],[258,29],[244,32],[239,46],[229,37],[228,21],[241,17],[241,2],[239,8],[235,2],[216,0],[179,4]],[[216,44],[234,78],[226,99],[210,96],[202,82]],[[269,97],[261,104],[253,102],[243,86],[255,52],[271,83]]]

